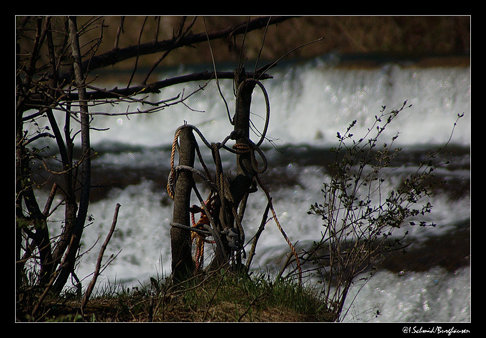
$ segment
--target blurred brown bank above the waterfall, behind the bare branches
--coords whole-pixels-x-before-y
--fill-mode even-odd
[[[79,25],[93,17],[79,17]],[[128,19],[129,18],[129,19]],[[208,31],[246,22],[248,16],[206,16]],[[251,17],[254,19],[255,17]],[[178,27],[180,16],[162,16],[159,30],[156,17],[127,17],[119,40],[119,48],[135,46],[140,41],[150,41],[156,34],[159,40],[169,39]],[[190,22],[192,17],[188,17]],[[106,16],[101,20],[106,26],[104,40],[113,41],[120,23],[120,16]],[[305,43],[323,37],[319,43],[290,53],[289,58],[312,58],[328,53],[338,54],[380,54],[382,57],[420,58],[423,56],[468,56],[470,49],[469,16],[302,16],[289,17],[285,21],[265,29],[253,31],[246,36],[242,59],[255,60],[261,50],[261,60],[274,61],[285,53]],[[143,30],[141,29],[143,27]],[[204,21],[199,18],[192,26],[192,32],[205,32]],[[140,31],[141,35],[140,35]],[[88,31],[84,39],[99,37],[98,30]],[[216,62],[239,59],[242,35],[231,40],[211,41]],[[265,44],[262,49],[262,41]],[[113,46],[100,46],[97,54]],[[180,63],[210,63],[209,49],[181,48],[169,53],[163,65]],[[158,55],[143,56],[139,65],[151,66]],[[365,62],[365,60],[362,60]],[[369,61],[374,62],[374,61]],[[133,60],[117,65],[133,67]]]

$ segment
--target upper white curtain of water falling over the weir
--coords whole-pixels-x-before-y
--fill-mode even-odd
[[[263,81],[270,99],[267,136],[278,138],[277,145],[334,145],[336,132],[343,133],[355,119],[355,135],[364,135],[382,106],[387,107],[386,111],[399,109],[405,100],[412,107],[399,115],[395,121],[397,129],[388,130],[388,138],[399,130],[402,134],[398,142],[402,145],[443,143],[449,139],[457,114],[464,112],[452,141],[470,144],[470,68],[422,69],[387,65],[380,69],[349,70],[319,67],[318,62],[309,62],[276,69],[271,74],[273,79]],[[232,114],[232,82],[220,80],[220,84]],[[199,85],[201,83],[186,85],[186,95]],[[158,100],[175,97],[181,92],[182,87],[171,87]],[[231,132],[224,103],[214,84],[202,95],[191,97],[187,104],[202,112],[176,105],[151,115],[97,118],[95,126],[110,130],[92,133],[91,142],[171,144],[175,129],[184,120],[196,125],[210,142],[221,142]],[[131,111],[135,108],[131,106]],[[126,107],[107,110],[123,113]],[[264,98],[258,88],[254,92],[252,112],[265,116]],[[263,119],[257,115],[253,121],[261,130]]]

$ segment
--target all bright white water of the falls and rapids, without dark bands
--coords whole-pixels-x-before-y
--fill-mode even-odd
[[[452,132],[457,114],[460,119],[452,142],[470,145],[470,68],[414,68],[387,65],[379,69],[337,69],[326,67],[319,60],[300,65],[290,65],[272,71],[273,79],[265,80],[270,98],[270,124],[267,135],[278,138],[277,146],[312,145],[334,146],[336,132],[346,131],[348,124],[357,119],[355,135],[365,135],[367,128],[379,115],[381,107],[387,111],[399,109],[407,100],[412,107],[404,110],[384,139],[389,140],[400,132],[398,144],[423,146],[445,143]],[[172,74],[167,75],[169,77]],[[231,81],[220,81],[230,111],[234,111]],[[185,92],[197,88],[187,85]],[[156,100],[174,97],[181,88],[170,88]],[[216,99],[215,99],[216,98]],[[214,84],[202,95],[191,98],[187,104],[195,112],[176,105],[151,115],[107,117],[97,116],[97,128],[110,128],[105,132],[93,132],[91,142],[97,144],[122,144],[152,147],[170,145],[175,129],[187,123],[196,125],[210,142],[220,142],[231,131],[224,103]],[[260,90],[255,90],[252,112],[264,116],[265,105]],[[146,108],[146,107],[141,107]],[[101,107],[96,107],[102,111]],[[103,111],[121,111],[117,106]],[[136,109],[131,106],[132,110]],[[263,119],[255,115],[253,121],[263,126]],[[393,127],[393,128],[392,128]],[[164,155],[167,159],[167,154]],[[167,167],[158,163],[161,156],[147,157],[137,152],[109,154],[100,159],[107,163],[131,163],[134,166]],[[271,163],[270,163],[271,165]],[[287,170],[305,177],[303,185],[283,187],[272,193],[277,217],[287,236],[295,242],[320,238],[321,220],[307,215],[310,204],[319,201],[320,188],[325,177],[316,166],[299,167],[288,163]],[[463,174],[468,176],[468,173]],[[172,206],[162,206],[165,192],[154,193],[153,183],[145,180],[124,189],[114,189],[107,199],[90,203],[89,212],[93,224],[85,230],[84,247],[96,240],[98,243],[83,256],[77,270],[78,277],[88,276],[94,270],[101,243],[112,223],[116,203],[121,204],[117,232],[106,251],[107,257],[118,254],[116,260],[104,271],[99,282],[123,282],[125,286],[137,286],[150,276],[161,276],[170,271],[169,222]],[[253,194],[245,214],[247,238],[255,233],[265,207],[265,196]],[[437,236],[447,232],[456,222],[468,219],[469,198],[448,201],[437,196],[430,218],[440,223],[434,232],[424,228],[409,229],[415,238]],[[62,219],[62,215],[58,216]],[[274,224],[269,223],[259,241],[254,267],[265,271],[266,266],[278,264],[279,252],[288,249],[285,240]],[[121,251],[120,251],[121,250]],[[86,277],[90,279],[91,277]],[[88,283],[85,279],[83,285]],[[455,273],[441,268],[431,271],[408,272],[398,276],[380,271],[358,293],[345,320],[349,321],[470,321],[470,273],[469,267]],[[351,291],[356,291],[356,288]],[[352,300],[348,297],[348,302]],[[349,305],[349,303],[348,303]],[[381,315],[375,317],[376,310]]]

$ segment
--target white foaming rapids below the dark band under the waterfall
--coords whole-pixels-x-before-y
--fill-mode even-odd
[[[305,213],[309,205],[320,198],[311,191],[295,187],[275,193],[277,217],[287,236],[294,242],[299,240],[305,244],[320,238],[320,219]],[[247,238],[256,232],[265,202],[263,195],[252,196],[244,223]],[[125,286],[139,286],[147,282],[150,276],[169,274],[172,206],[161,205],[160,195],[154,193],[150,182],[145,181],[123,190],[114,189],[106,200],[90,204],[89,213],[94,221],[84,231],[85,249],[96,240],[98,243],[82,257],[77,267],[78,277],[86,278],[84,284],[91,278],[116,203],[121,204],[117,230],[105,252],[106,257],[115,255],[116,258],[104,270],[98,285],[121,283]],[[413,229],[420,230],[422,235],[431,235],[423,228]],[[434,234],[437,235],[436,232]],[[420,233],[414,235],[420,236]],[[278,271],[287,254],[287,243],[276,225],[269,222],[259,241],[253,269],[269,273]],[[355,295],[356,299],[351,304]],[[455,273],[442,268],[402,274],[379,271],[363,287],[359,282],[354,285],[345,308],[349,308],[345,321],[467,322],[470,320],[469,267]],[[380,315],[375,316],[376,310]]]

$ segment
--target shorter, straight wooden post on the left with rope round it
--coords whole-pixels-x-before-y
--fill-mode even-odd
[[[179,132],[179,165],[194,166],[196,139],[192,129],[182,128]],[[190,226],[190,194],[194,184],[192,173],[178,171],[174,191],[173,222]],[[175,179],[173,177],[172,179]],[[172,278],[174,282],[187,280],[194,271],[191,255],[190,231],[172,227],[170,229]]]

